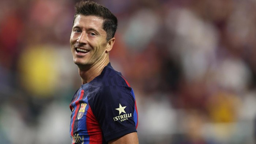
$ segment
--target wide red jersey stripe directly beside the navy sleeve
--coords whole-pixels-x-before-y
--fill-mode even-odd
[[[90,144],[101,144],[102,143],[102,131],[97,121],[97,118],[94,116],[91,107],[89,105],[89,109],[86,114],[86,126],[89,134],[89,143]]]

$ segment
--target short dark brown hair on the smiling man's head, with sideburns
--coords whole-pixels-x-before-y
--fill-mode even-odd
[[[114,37],[117,29],[117,18],[108,8],[93,1],[80,1],[75,4],[73,25],[76,17],[80,14],[85,16],[93,15],[101,17],[104,20],[102,28],[107,33],[106,39],[110,40]]]

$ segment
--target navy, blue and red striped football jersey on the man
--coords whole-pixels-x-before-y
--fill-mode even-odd
[[[99,76],[76,91],[70,109],[72,144],[106,144],[137,132],[133,89],[110,63]]]

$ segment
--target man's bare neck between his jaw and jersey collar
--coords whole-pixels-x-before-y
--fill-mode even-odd
[[[78,66],[79,75],[82,78],[82,84],[92,81],[95,77],[101,74],[102,70],[108,65],[109,59],[106,61],[98,62],[92,66]]]

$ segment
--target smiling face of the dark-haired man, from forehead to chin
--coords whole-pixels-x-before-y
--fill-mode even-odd
[[[70,36],[74,63],[78,66],[94,65],[106,56],[106,31],[103,19],[97,16],[78,15]]]

